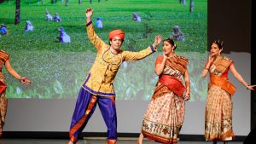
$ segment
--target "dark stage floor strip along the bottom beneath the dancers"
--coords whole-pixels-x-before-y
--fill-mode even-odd
[[[66,144],[62,139],[0,139],[0,144]],[[144,141],[144,144],[154,144],[154,141]],[[178,144],[211,144],[211,141],[178,141]],[[79,140],[77,144],[107,144],[106,140]],[[118,144],[136,144],[135,139],[119,140]],[[218,141],[218,144],[223,144]],[[242,141],[230,141],[229,144],[242,144]]]

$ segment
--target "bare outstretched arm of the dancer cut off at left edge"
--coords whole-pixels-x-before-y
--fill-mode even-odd
[[[20,80],[21,84],[26,84],[26,85],[31,84],[31,82],[26,77],[20,77],[20,74],[16,72],[15,69],[11,66],[9,60],[5,61],[4,66],[10,75]]]

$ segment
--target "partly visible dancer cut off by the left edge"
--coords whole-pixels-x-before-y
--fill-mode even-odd
[[[7,72],[17,78],[21,84],[29,85],[31,81],[26,77],[21,77],[18,72],[11,66],[9,61],[9,54],[0,49],[0,137],[3,135],[3,125],[5,124],[5,116],[7,111],[7,97],[5,90],[7,88],[5,78],[3,76],[2,67],[5,66]]]

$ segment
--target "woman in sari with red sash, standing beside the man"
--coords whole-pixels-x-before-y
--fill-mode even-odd
[[[185,101],[190,99],[190,83],[189,60],[176,55],[176,48],[174,41],[167,38],[163,55],[155,60],[154,72],[159,80],[144,114],[137,144],[143,144],[143,137],[160,143],[177,143],[184,120]]]

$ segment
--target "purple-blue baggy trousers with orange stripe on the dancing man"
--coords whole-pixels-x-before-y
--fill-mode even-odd
[[[115,108],[114,96],[99,96],[92,95],[90,92],[81,88],[76,102],[76,107],[73,112],[73,118],[70,125],[69,137],[73,142],[79,140],[79,135],[84,130],[91,115],[96,109],[96,104],[99,105],[104,118],[105,124],[108,127],[108,143],[115,143],[117,140],[117,116]]]

